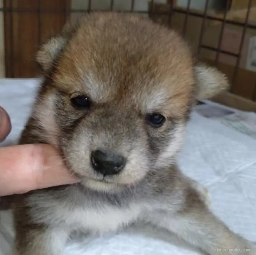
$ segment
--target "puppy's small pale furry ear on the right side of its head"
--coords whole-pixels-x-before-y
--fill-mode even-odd
[[[226,75],[215,67],[199,63],[194,67],[197,100],[207,99],[229,88]]]

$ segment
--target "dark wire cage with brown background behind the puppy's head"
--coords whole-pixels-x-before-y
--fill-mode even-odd
[[[6,78],[37,76],[38,46],[67,19],[98,10],[136,12],[180,32],[200,59],[227,74],[229,94],[247,103],[256,101],[255,0],[0,0],[0,4]]]

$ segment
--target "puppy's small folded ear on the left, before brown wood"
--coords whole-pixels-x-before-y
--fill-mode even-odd
[[[65,46],[66,41],[66,38],[59,35],[57,37],[51,37],[46,43],[41,45],[36,54],[36,61],[44,72],[47,72],[51,68],[58,54]]]

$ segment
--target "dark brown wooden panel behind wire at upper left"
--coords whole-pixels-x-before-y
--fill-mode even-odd
[[[70,0],[4,0],[6,78],[38,75],[34,54],[69,11]]]

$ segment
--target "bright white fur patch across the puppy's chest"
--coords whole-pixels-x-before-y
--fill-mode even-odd
[[[66,214],[65,224],[72,230],[89,230],[104,233],[126,227],[136,220],[140,208],[119,208],[102,206],[100,208],[77,208]]]

